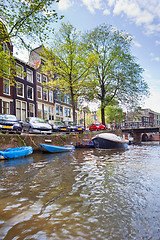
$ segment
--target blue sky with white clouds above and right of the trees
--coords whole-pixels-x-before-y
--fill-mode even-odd
[[[56,10],[77,30],[106,23],[132,35],[132,54],[151,92],[142,107],[160,113],[160,0],[60,0]]]

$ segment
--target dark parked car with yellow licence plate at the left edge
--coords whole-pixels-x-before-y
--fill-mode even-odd
[[[21,134],[22,126],[15,115],[0,114],[0,131]]]

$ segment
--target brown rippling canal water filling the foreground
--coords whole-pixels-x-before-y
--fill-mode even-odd
[[[0,239],[160,239],[160,145],[0,162]]]

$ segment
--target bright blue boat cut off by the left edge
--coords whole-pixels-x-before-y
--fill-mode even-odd
[[[31,153],[33,153],[33,148],[30,146],[8,148],[0,151],[0,159],[20,158],[28,156]]]

